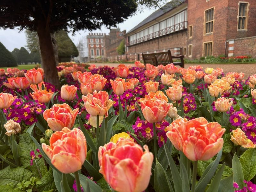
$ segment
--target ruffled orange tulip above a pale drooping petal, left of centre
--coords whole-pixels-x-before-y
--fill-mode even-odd
[[[83,95],[82,100],[86,111],[92,116],[105,115],[105,117],[108,117],[108,110],[113,105],[113,101],[109,99],[106,91],[94,91],[93,94]]]

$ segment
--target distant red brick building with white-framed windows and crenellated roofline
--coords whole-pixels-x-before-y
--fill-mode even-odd
[[[103,33],[89,33],[87,38],[88,59],[92,60],[97,57],[104,56]]]

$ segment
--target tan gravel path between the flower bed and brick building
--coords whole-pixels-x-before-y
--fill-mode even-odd
[[[116,67],[119,63],[95,63],[98,66],[108,65],[111,67]],[[125,65],[133,65],[133,64],[125,64]],[[197,64],[185,64],[185,68],[188,68],[191,65]],[[243,72],[244,77],[249,77],[253,74],[256,74],[256,63],[254,64],[200,64],[202,67],[207,68],[223,68],[224,74],[228,72]]]

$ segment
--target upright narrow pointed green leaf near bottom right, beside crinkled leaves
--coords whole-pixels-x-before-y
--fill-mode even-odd
[[[234,173],[234,182],[236,182],[239,186],[239,189],[244,187],[244,174],[241,167],[241,163],[235,153],[232,159],[232,168]]]

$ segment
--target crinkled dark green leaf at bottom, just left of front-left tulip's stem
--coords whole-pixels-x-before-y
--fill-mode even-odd
[[[46,174],[44,174],[41,181],[42,181],[42,184],[36,185],[36,188],[39,192],[56,189],[54,178],[53,178],[52,167],[50,167],[49,171]]]

